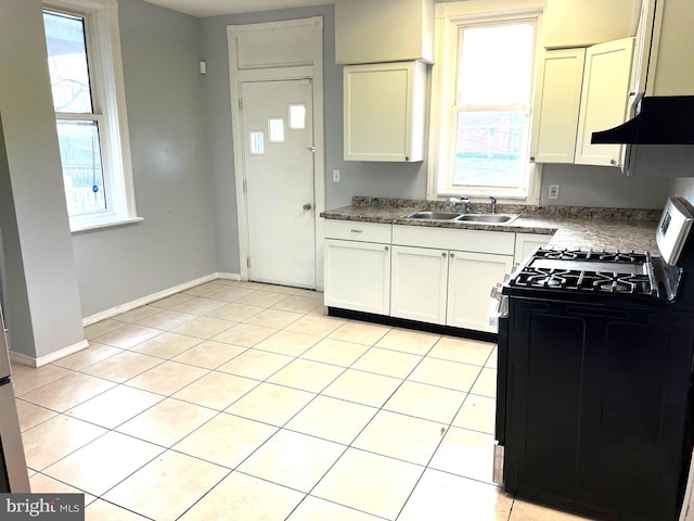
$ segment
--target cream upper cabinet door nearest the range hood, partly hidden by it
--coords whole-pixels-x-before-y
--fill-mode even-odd
[[[588,48],[575,163],[620,166],[621,144],[591,144],[591,135],[627,118],[633,38]]]

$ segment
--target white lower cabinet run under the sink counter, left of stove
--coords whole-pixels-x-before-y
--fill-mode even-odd
[[[493,333],[491,289],[551,238],[329,219],[325,305]]]

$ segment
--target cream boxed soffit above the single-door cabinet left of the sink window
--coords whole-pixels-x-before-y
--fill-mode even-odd
[[[335,63],[434,61],[434,0],[335,0]]]

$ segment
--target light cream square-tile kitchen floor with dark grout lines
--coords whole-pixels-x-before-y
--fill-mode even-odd
[[[569,521],[491,483],[489,343],[215,280],[13,366],[34,492],[88,520]]]

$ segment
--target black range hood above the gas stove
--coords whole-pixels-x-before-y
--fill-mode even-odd
[[[694,96],[641,100],[638,114],[609,130],[593,132],[593,144],[694,144]]]

